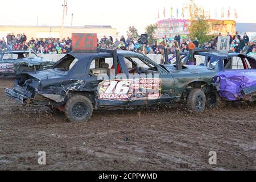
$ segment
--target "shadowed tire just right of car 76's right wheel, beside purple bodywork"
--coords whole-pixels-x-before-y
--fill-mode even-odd
[[[225,101],[219,96],[218,92],[207,92],[207,106],[211,109],[216,107],[224,107]]]

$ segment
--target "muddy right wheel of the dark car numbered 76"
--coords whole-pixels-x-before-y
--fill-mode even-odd
[[[187,99],[187,107],[195,114],[203,113],[205,110],[207,99],[203,90],[193,89]]]

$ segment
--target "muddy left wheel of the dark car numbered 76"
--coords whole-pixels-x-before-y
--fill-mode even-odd
[[[64,113],[69,121],[86,122],[92,117],[93,105],[89,98],[76,94],[65,104]]]

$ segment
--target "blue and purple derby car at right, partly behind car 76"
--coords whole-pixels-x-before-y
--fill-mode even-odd
[[[225,101],[256,101],[256,60],[240,53],[190,50],[180,53],[183,65],[201,65],[216,71],[214,86]],[[175,59],[171,59],[175,63]]]

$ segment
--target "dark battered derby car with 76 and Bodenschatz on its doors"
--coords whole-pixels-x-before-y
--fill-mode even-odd
[[[93,109],[170,104],[186,101],[201,113],[214,105],[212,68],[195,65],[158,65],[147,56],[98,49],[68,53],[53,69],[22,73],[7,96],[24,105],[55,106],[70,121],[88,121]],[[217,94],[215,94],[217,97]]]

